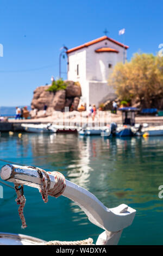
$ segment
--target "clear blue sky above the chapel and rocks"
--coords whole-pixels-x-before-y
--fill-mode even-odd
[[[159,0],[1,0],[0,106],[30,105],[33,90],[58,77],[62,45],[96,39],[105,28],[120,42],[118,31],[126,28],[128,60],[140,50],[156,54],[163,43],[162,13]]]

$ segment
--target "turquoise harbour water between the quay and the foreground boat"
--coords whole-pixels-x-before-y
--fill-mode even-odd
[[[66,179],[83,186],[108,208],[122,203],[136,209],[133,224],[124,229],[119,245],[163,244],[163,138],[79,137],[74,134],[35,135],[17,133],[0,138],[0,159],[39,166],[63,173]],[[0,167],[5,163],[0,161]],[[10,184],[12,185],[12,184]],[[24,187],[24,214],[28,227],[21,229],[16,194],[3,186],[0,198],[0,231],[21,233],[44,240],[94,242],[102,229],[87,219],[71,200],[50,198],[43,203],[35,188]]]

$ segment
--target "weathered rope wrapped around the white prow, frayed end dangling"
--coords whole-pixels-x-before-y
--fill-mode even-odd
[[[61,194],[64,192],[66,188],[66,181],[65,181],[64,175],[62,175],[59,172],[46,172],[45,170],[40,169],[38,167],[33,167],[33,166],[28,166],[28,167],[35,169],[40,176],[42,186],[39,189],[39,192],[42,194],[42,199],[45,203],[48,202],[48,195],[56,198],[61,196]],[[53,175],[55,178],[55,185],[51,189],[50,189],[51,179],[49,178],[48,173]],[[46,176],[47,181],[43,174]],[[24,197],[24,194],[23,194],[23,185],[20,188],[18,188],[20,184],[15,183],[14,185],[15,185],[15,191],[17,194],[17,198],[15,201],[17,202],[18,205],[20,205],[20,207],[18,208],[18,214],[22,221],[22,228],[24,229],[27,227],[26,220],[23,214],[24,205],[26,204],[26,198]]]

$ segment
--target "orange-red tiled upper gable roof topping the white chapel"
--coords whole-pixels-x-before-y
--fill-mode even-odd
[[[116,41],[116,40],[114,40],[114,39],[112,39],[112,38],[108,38],[108,36],[104,35],[104,36],[102,36],[101,38],[97,38],[97,39],[92,40],[92,41],[90,41],[90,42],[86,42],[86,43],[83,44],[83,45],[79,45],[79,46],[77,46],[77,47],[71,48],[70,50],[67,50],[67,53],[77,51],[77,50],[79,50],[79,49],[81,49],[81,48],[84,48],[84,47],[88,47],[88,46],[90,46],[90,45],[96,44],[97,42],[101,42],[101,41],[103,41],[103,40],[105,40],[105,39],[107,39],[107,40],[109,40],[109,41],[111,41],[111,42],[114,42],[115,44],[120,45],[120,46],[122,46],[122,47],[124,47],[124,48],[126,48],[126,49],[129,48],[129,46],[123,45],[123,44],[121,44],[121,42],[118,42],[118,41]]]

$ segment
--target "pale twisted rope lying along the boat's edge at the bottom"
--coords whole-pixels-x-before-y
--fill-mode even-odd
[[[93,239],[89,237],[88,239],[81,241],[49,241],[46,242],[44,245],[92,245],[92,243]]]

